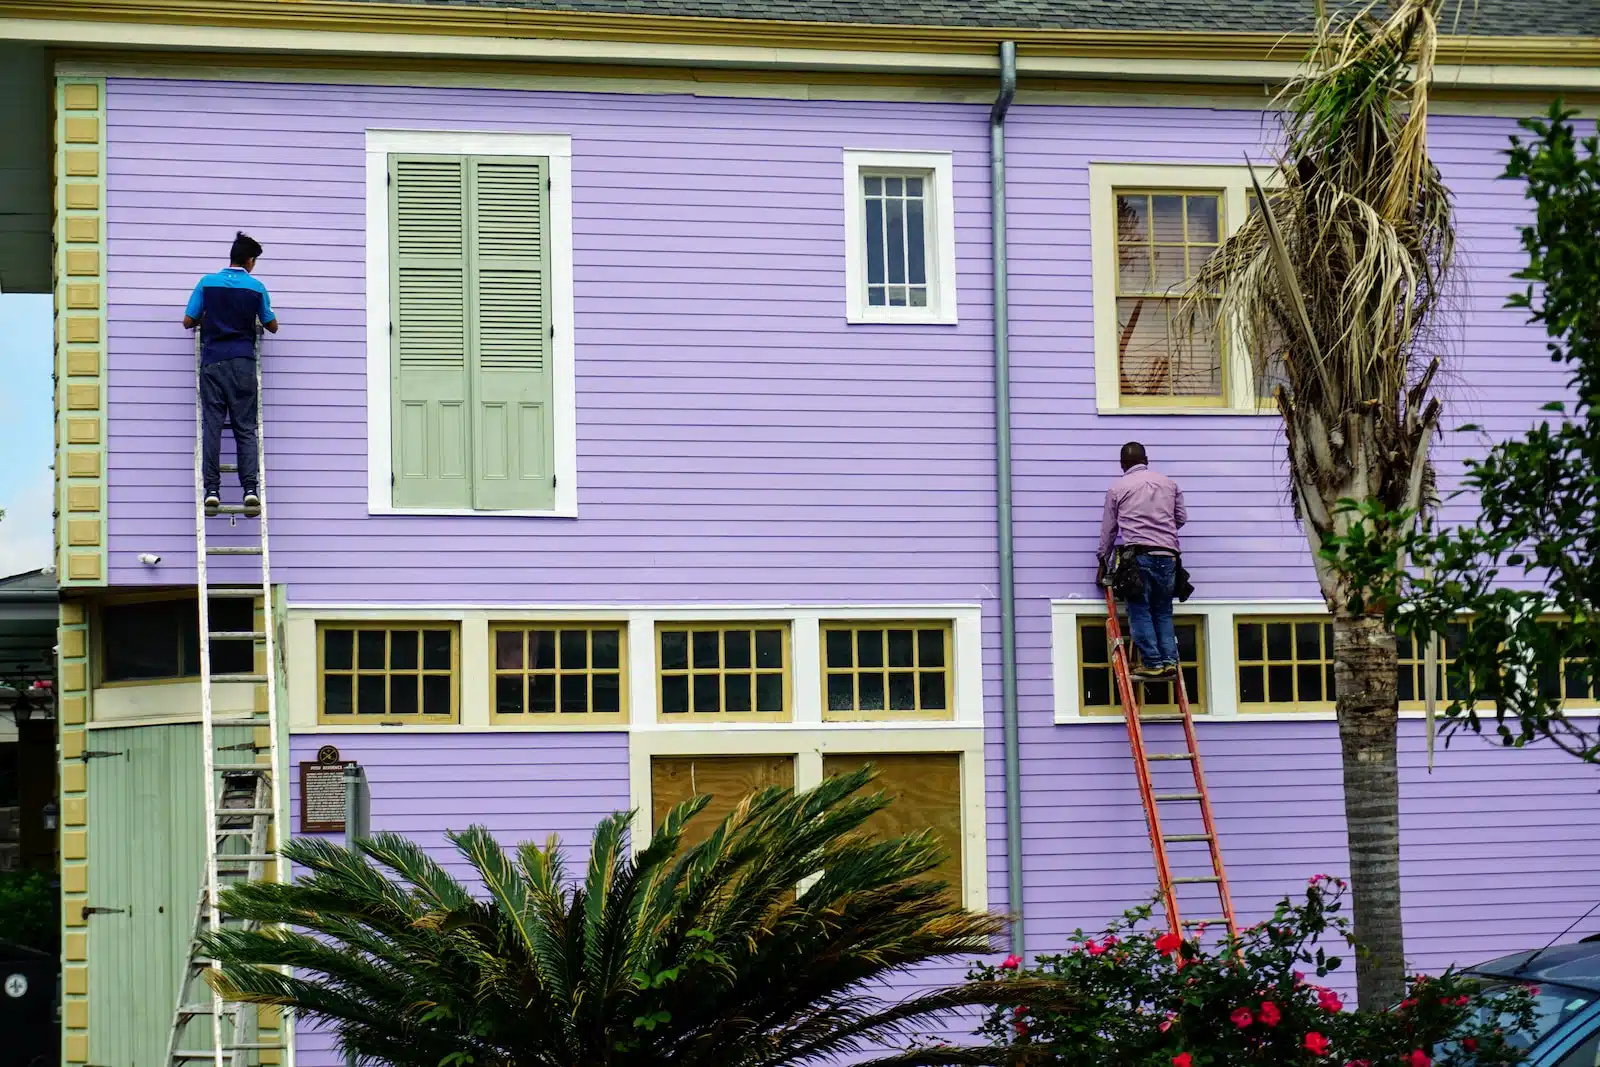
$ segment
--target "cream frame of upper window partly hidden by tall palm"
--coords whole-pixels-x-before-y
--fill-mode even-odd
[[[1256,176],[1272,189],[1275,171],[1258,166]],[[1190,166],[1184,163],[1090,163],[1090,245],[1094,288],[1094,405],[1101,414],[1277,414],[1270,400],[1256,398],[1254,370],[1238,342],[1238,331],[1222,338],[1224,403],[1123,405],[1117,360],[1117,205],[1115,189],[1218,190],[1222,194],[1222,232],[1230,237],[1248,213],[1248,166]]]

